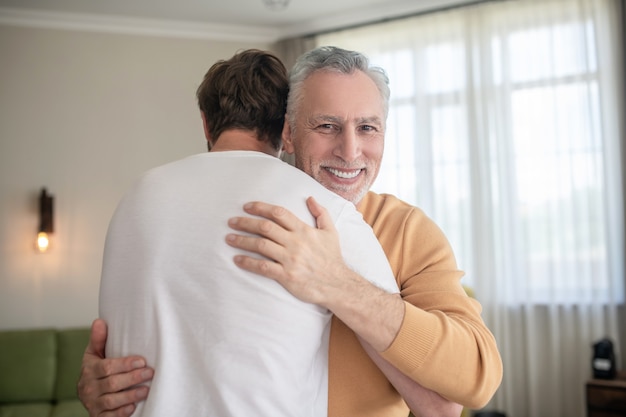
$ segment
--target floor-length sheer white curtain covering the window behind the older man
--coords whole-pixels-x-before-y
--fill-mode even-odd
[[[592,343],[621,350],[619,10],[502,1],[317,37],[387,70],[374,190],[449,237],[504,361],[488,408],[507,417],[584,417]]]

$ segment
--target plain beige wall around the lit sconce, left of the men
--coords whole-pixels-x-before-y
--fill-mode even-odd
[[[249,47],[268,45],[0,25],[0,329],[91,323],[117,201],[146,169],[206,151],[196,87]]]

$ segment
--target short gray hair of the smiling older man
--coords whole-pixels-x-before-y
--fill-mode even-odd
[[[389,112],[389,77],[380,67],[370,66],[369,59],[356,51],[321,46],[301,55],[289,73],[289,99],[287,100],[287,118],[291,128],[295,128],[296,109],[302,101],[304,81],[317,71],[334,71],[352,74],[362,71],[372,79],[383,100],[384,117]]]

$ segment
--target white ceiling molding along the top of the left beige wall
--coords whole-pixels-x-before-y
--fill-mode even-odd
[[[280,30],[263,26],[140,19],[125,16],[33,11],[8,7],[0,7],[0,24],[233,42],[274,42],[281,37]]]

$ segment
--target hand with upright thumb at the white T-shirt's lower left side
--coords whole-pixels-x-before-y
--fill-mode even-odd
[[[106,338],[106,323],[94,320],[83,355],[78,397],[90,417],[128,417],[135,411],[135,403],[148,396],[147,386],[135,385],[151,380],[154,370],[141,356],[106,359]]]

